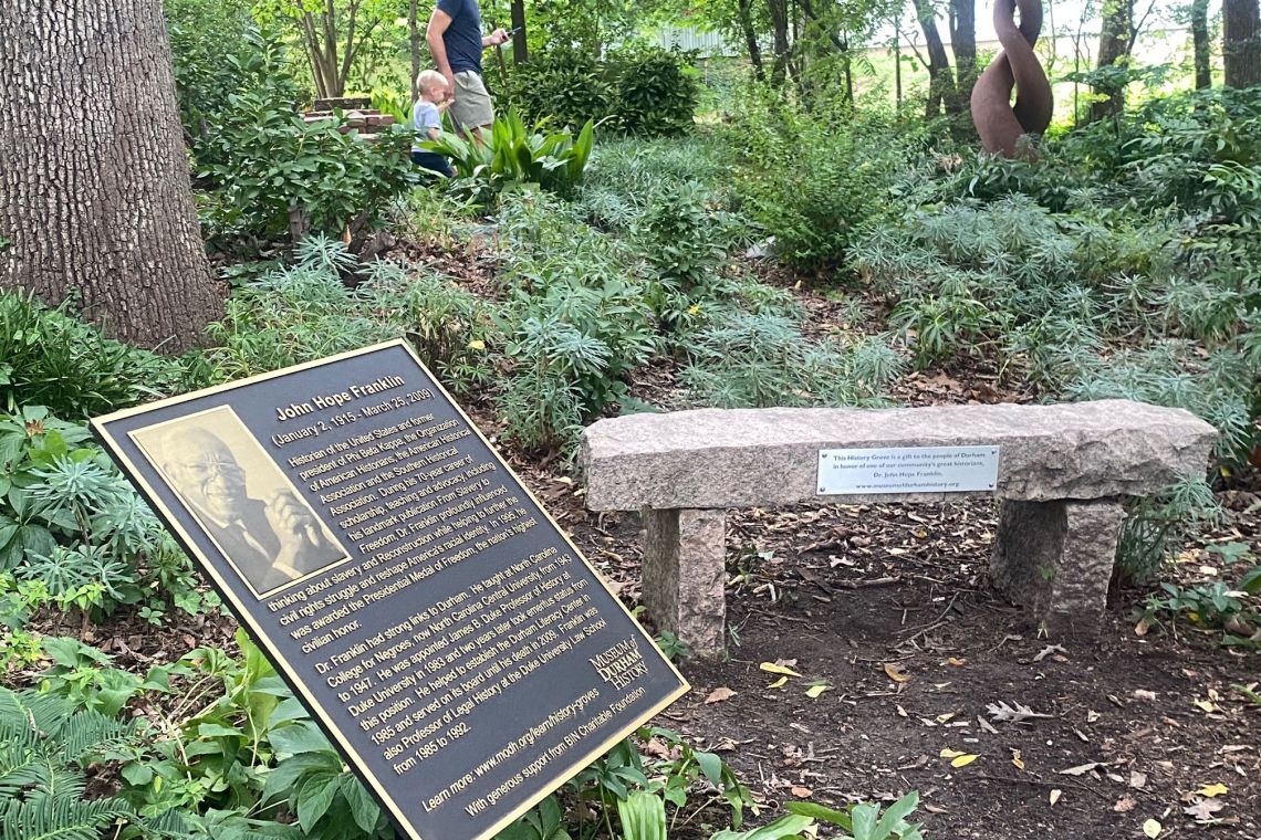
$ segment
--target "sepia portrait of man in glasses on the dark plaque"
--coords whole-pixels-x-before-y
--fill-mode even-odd
[[[231,408],[132,436],[256,594],[346,559]]]

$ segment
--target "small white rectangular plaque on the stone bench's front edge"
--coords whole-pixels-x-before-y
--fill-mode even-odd
[[[997,446],[818,451],[821,496],[984,492],[994,490],[997,481]]]

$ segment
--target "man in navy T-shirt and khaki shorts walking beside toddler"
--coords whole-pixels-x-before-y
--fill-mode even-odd
[[[477,0],[438,0],[425,40],[438,72],[446,77],[455,126],[464,135],[488,127],[494,122],[494,105],[482,82],[482,50],[507,42],[508,33],[496,29],[482,37]]]

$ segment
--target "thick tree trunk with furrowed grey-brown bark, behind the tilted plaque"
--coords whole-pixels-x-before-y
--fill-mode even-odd
[[[178,353],[223,315],[160,0],[5,0],[0,288]]]

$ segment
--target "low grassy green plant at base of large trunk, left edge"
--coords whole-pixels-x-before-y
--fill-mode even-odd
[[[178,364],[105,338],[69,309],[0,292],[0,411],[39,404],[63,417],[86,417],[178,388]]]

